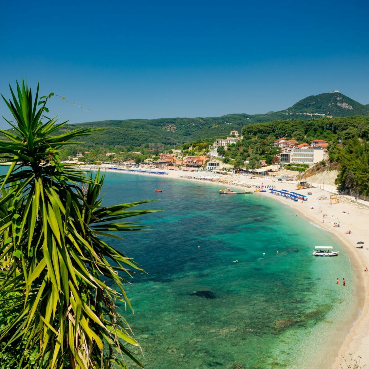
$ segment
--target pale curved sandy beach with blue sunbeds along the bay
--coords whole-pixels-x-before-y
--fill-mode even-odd
[[[85,166],[83,169],[91,169],[91,167]],[[101,170],[110,171],[111,169],[101,168]],[[118,170],[111,171],[118,172]],[[341,365],[344,364],[343,358],[348,359],[349,354],[352,354],[354,359],[361,356],[361,366],[365,364],[369,366],[369,272],[364,272],[364,269],[367,266],[369,267],[369,241],[367,240],[369,204],[366,201],[355,201],[350,196],[338,195],[339,203],[330,204],[330,194],[335,192],[334,186],[323,186],[315,183],[313,188],[297,190],[296,182],[279,182],[268,176],[252,179],[246,175],[214,175],[206,172],[168,171],[163,169],[160,169],[160,171],[167,172],[168,174],[164,175],[167,178],[196,182],[199,182],[201,178],[204,181],[220,183],[220,188],[224,188],[226,184],[231,189],[239,188],[243,190],[245,190],[245,186],[251,186],[253,191],[255,186],[264,184],[275,186],[274,188],[277,190],[297,191],[305,195],[307,195],[307,192],[311,192],[312,194],[307,196],[307,201],[298,202],[269,192],[255,192],[253,196],[268,196],[288,204],[291,207],[291,215],[292,213],[299,214],[319,227],[332,232],[346,246],[346,252],[357,278],[356,286],[358,288],[355,291],[355,296],[358,306],[355,307],[356,313],[353,314],[352,319],[348,319],[348,326],[342,327],[341,335],[338,334],[336,340],[332,337],[335,344],[334,347],[330,348],[331,355],[327,356],[326,368],[340,369]],[[141,175],[154,176],[154,174]],[[324,187],[324,190],[321,187]],[[318,200],[322,196],[326,198]],[[323,214],[325,214],[324,217]],[[339,227],[334,227],[334,223],[339,223]],[[346,233],[349,230],[351,230],[351,234]],[[363,249],[357,248],[357,242],[359,241],[365,242]],[[349,283],[349,281],[346,283]],[[334,332],[332,332],[332,335],[334,335]],[[343,367],[345,368],[345,366]]]

